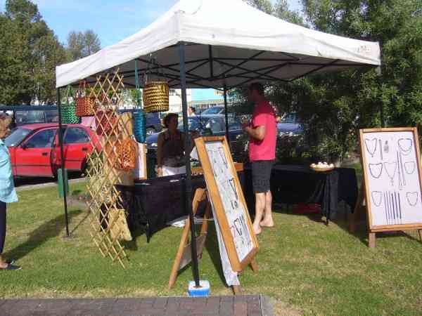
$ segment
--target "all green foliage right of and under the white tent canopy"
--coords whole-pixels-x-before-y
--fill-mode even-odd
[[[268,10],[298,24],[286,1]],[[261,4],[261,6],[259,5]],[[381,74],[375,69],[308,76],[290,84],[271,84],[269,100],[280,112],[298,112],[305,123],[307,155],[341,159],[356,148],[357,129],[381,126],[381,109],[388,126],[418,126],[422,122],[422,11],[420,0],[302,0],[311,28],[340,36],[378,41]],[[245,91],[233,97],[245,102]],[[421,132],[421,130],[420,130]]]

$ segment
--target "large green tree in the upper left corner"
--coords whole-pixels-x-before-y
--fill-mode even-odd
[[[53,102],[56,65],[62,62],[65,50],[37,5],[6,1],[6,11],[0,13],[0,103]]]

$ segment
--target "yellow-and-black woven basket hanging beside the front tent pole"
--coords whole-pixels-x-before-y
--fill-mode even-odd
[[[143,110],[148,113],[169,110],[169,84],[166,81],[150,81],[143,88]]]

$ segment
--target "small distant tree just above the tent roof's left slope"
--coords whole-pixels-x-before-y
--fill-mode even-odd
[[[91,29],[85,32],[72,31],[68,35],[68,58],[70,61],[87,57],[100,49],[101,41]]]

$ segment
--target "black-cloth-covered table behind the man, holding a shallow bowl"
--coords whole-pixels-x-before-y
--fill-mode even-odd
[[[252,172],[245,169],[245,189],[248,207],[255,202]],[[357,201],[357,178],[354,169],[336,168],[316,172],[309,166],[275,165],[271,174],[273,202],[283,204],[321,204],[326,220],[335,218],[338,203],[344,201],[353,211]]]

